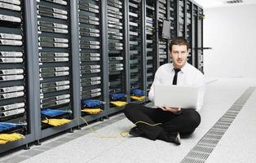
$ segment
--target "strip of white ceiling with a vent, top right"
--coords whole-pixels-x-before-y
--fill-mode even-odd
[[[256,4],[256,0],[242,0],[243,2],[237,4],[228,4],[226,1],[227,0],[194,0],[194,2],[201,5],[204,8],[232,7],[237,5]]]

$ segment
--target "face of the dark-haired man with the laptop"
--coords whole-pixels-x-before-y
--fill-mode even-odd
[[[182,68],[188,58],[187,46],[173,45],[170,58],[173,60],[174,68]]]

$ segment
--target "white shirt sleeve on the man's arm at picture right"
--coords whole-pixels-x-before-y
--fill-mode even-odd
[[[205,99],[205,77],[202,73],[200,73],[199,77],[197,77],[196,83],[198,84],[197,86],[199,86],[199,95],[196,107],[196,111],[198,112],[203,107]]]

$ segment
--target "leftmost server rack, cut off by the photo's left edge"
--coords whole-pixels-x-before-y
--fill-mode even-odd
[[[0,122],[29,125],[24,2],[0,1]],[[0,133],[29,134],[28,126]]]

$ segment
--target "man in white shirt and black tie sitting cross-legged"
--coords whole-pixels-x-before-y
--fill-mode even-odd
[[[127,104],[125,115],[136,125],[130,130],[131,135],[152,140],[161,139],[179,145],[179,134],[192,134],[199,126],[201,116],[197,111],[203,105],[205,79],[198,69],[188,64],[188,48],[188,42],[183,37],[176,37],[170,42],[172,63],[163,64],[157,69],[148,98],[151,101],[154,100],[154,85],[156,84],[200,86],[196,109],[170,108],[169,106],[147,108],[140,104]],[[138,121],[143,122],[136,123]],[[157,123],[161,125],[152,126]]]

